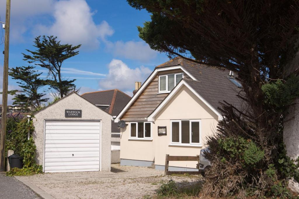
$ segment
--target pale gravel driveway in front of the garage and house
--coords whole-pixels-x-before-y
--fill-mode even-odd
[[[111,172],[45,173],[23,176],[54,198],[143,198],[155,194],[164,171],[112,164]],[[188,186],[197,176],[171,176],[179,186]]]

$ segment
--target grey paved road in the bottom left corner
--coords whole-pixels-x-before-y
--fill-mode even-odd
[[[31,189],[14,177],[0,172],[0,198],[5,199],[40,199]]]

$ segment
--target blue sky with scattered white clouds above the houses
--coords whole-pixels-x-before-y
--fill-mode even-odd
[[[5,4],[6,0],[0,0],[1,21],[5,21]],[[13,0],[9,67],[28,65],[21,53],[34,50],[34,37],[55,35],[62,43],[82,44],[80,54],[62,67],[65,78],[77,79],[80,93],[118,88],[131,94],[135,81],[143,82],[155,66],[168,60],[165,53],[151,50],[138,37],[136,26],[149,19],[146,10],[135,10],[125,0]],[[3,57],[1,53],[1,83]],[[36,70],[43,72],[42,78],[47,75],[43,68]],[[16,81],[9,78],[9,90],[16,88]]]

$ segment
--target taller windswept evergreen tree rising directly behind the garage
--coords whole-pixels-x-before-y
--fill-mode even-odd
[[[68,80],[62,77],[61,67],[63,61],[79,54],[76,51],[81,45],[72,46],[70,44],[60,44],[57,37],[54,36],[38,36],[34,40],[35,51],[27,50],[31,55],[24,55],[24,60],[29,63],[48,69],[47,84],[58,94],[60,98],[67,95],[71,91],[76,90],[75,79]]]

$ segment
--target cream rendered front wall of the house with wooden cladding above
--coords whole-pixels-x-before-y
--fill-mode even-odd
[[[170,145],[170,121],[176,119],[201,120],[200,144],[202,146]],[[129,124],[129,122],[127,122]],[[205,147],[206,137],[215,132],[218,116],[210,110],[187,87],[182,87],[156,115],[152,124],[152,140],[130,140],[129,126],[121,129],[120,159],[154,161],[155,165],[165,165],[165,155],[196,156]],[[167,127],[167,135],[158,136],[158,126]],[[170,161],[169,166],[196,168],[196,161]],[[158,167],[158,166],[157,166]]]

